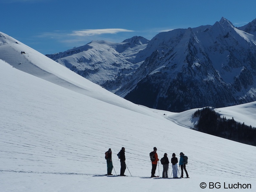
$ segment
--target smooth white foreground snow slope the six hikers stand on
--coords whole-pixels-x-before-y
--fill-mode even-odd
[[[182,185],[198,191],[201,182],[256,184],[255,162],[238,163],[246,162],[248,153],[254,159],[255,147],[178,126],[157,112],[152,117],[96,100],[19,71],[4,61],[0,65],[2,191],[83,191],[85,187],[99,191],[106,190],[107,184],[120,186],[123,191],[146,191],[153,184],[165,190],[170,185],[178,190]],[[135,177],[93,177],[106,172],[104,151],[109,147],[119,173],[115,154],[122,146]],[[150,175],[148,153],[153,146],[157,146],[159,157],[165,152],[169,158],[173,152],[188,155],[191,178],[140,178]],[[159,169],[161,172],[162,167]],[[123,185],[117,184],[120,182]],[[134,183],[133,187],[129,183]]]

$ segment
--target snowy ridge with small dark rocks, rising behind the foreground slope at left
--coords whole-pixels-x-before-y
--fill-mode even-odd
[[[120,102],[120,100],[123,101],[123,99],[119,96],[102,89],[101,86],[92,83],[52,59],[49,59],[45,55],[1,32],[0,59],[6,61],[16,69],[66,87],[72,91],[134,110],[134,106],[131,107],[130,101],[127,101],[125,104]],[[138,110],[141,109],[138,108]]]

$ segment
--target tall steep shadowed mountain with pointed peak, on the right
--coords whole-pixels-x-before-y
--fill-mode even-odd
[[[227,19],[213,26],[160,33],[148,46],[154,41],[165,49],[147,58],[116,94],[175,112],[256,100],[256,37]]]

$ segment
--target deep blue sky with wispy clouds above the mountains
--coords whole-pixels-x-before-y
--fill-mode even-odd
[[[161,31],[213,25],[222,16],[236,27],[256,18],[255,0],[0,0],[0,7],[0,31],[43,54],[92,40],[150,40]]]

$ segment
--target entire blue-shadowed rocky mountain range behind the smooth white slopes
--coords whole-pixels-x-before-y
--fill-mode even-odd
[[[256,21],[175,29],[48,55],[137,104],[181,112],[256,101]]]

